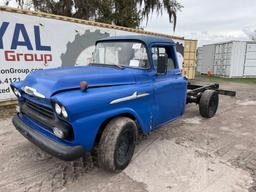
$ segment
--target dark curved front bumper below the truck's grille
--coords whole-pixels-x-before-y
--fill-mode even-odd
[[[59,159],[72,161],[85,154],[83,147],[80,145],[67,146],[43,136],[42,134],[26,125],[18,115],[13,117],[12,122],[16,129],[29,141]]]

